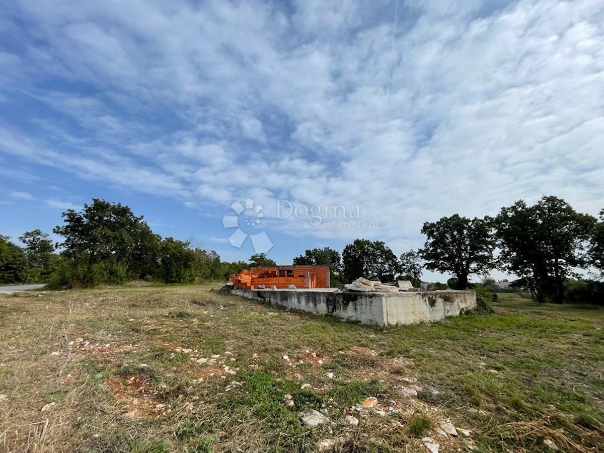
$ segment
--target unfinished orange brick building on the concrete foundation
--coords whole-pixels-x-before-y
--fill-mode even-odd
[[[243,269],[239,274],[231,274],[230,281],[237,289],[255,289],[263,284],[267,289],[287,289],[290,284],[296,288],[329,288],[329,266],[259,266]]]

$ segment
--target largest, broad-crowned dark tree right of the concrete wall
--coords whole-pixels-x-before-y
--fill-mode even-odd
[[[540,303],[562,303],[565,279],[588,264],[585,249],[594,225],[594,217],[555,196],[533,206],[517,201],[495,218],[500,266],[524,278]]]

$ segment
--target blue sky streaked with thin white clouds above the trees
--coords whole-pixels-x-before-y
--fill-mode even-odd
[[[0,6],[13,239],[101,198],[288,264],[545,194],[604,208],[602,0]]]

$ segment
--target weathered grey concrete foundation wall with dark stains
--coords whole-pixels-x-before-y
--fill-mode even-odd
[[[233,289],[232,294],[305,312],[366,324],[393,326],[439,321],[476,306],[474,291],[353,293],[309,290]]]

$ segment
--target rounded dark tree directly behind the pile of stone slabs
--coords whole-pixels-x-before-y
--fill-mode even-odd
[[[378,278],[380,281],[394,280],[400,265],[393,251],[384,242],[355,239],[342,252],[342,276],[344,281],[358,277]]]

